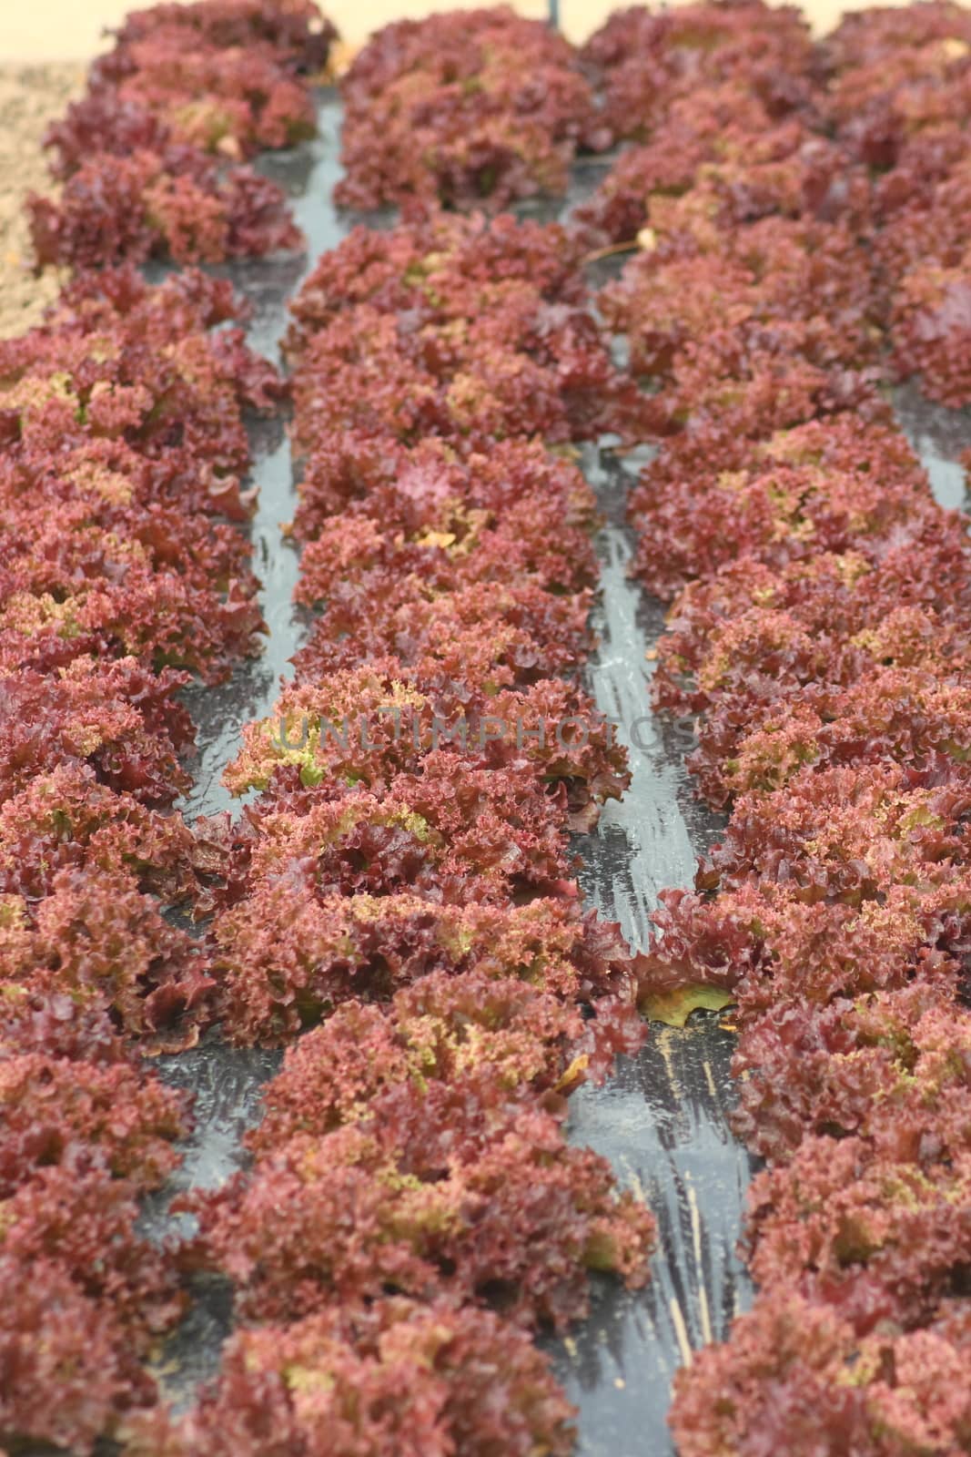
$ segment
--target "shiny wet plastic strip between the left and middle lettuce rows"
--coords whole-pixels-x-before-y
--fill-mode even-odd
[[[325,92],[319,106],[319,136],[290,153],[261,160],[261,170],[291,194],[293,208],[307,237],[303,256],[247,259],[215,270],[231,278],[252,307],[249,342],[268,358],[278,358],[287,328],[287,302],[294,296],[313,261],[336,248],[354,220],[332,207],[338,165],[341,108],[333,92]],[[306,616],[293,605],[298,558],[282,526],[293,519],[294,491],[290,441],[280,420],[259,420],[252,427],[253,474],[259,490],[250,525],[253,567],[262,581],[261,605],[269,634],[261,657],[242,663],[229,683],[217,688],[192,686],[185,701],[198,726],[197,753],[188,762],[195,784],[179,807],[186,819],[217,814],[239,803],[220,778],[236,755],[240,731],[252,718],[268,714],[277,701],[281,676],[293,676],[290,657],[300,647]],[[242,1138],[259,1120],[261,1085],[280,1068],[281,1053],[229,1048],[217,1033],[208,1033],[198,1048],[162,1058],[159,1071],[175,1087],[195,1096],[195,1122],[183,1145],[185,1161],[169,1186],[153,1196],[144,1225],[156,1237],[191,1227],[169,1215],[170,1199],[188,1189],[211,1189],[243,1166]],[[192,1285],[194,1304],[181,1327],[166,1342],[157,1375],[178,1407],[191,1403],[199,1381],[215,1374],[220,1348],[231,1327],[231,1289],[221,1279],[199,1279]]]

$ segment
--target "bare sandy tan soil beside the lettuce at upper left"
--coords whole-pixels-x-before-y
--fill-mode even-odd
[[[58,270],[32,271],[23,198],[51,191],[41,143],[48,122],[80,95],[84,67],[0,64],[0,338],[23,334],[55,297]]]

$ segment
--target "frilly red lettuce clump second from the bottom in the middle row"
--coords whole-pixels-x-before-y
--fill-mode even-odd
[[[587,1310],[588,1269],[642,1284],[654,1234],[604,1160],[472,1074],[389,1085],[358,1122],[296,1135],[192,1206],[198,1257],[233,1273],[242,1313],[261,1320],[392,1288],[562,1326]]]

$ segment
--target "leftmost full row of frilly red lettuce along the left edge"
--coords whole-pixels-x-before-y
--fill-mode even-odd
[[[173,912],[210,879],[172,810],[191,678],[265,631],[245,415],[285,386],[231,287],[151,254],[293,246],[282,194],[236,159],[313,125],[329,29],[293,0],[132,15],[54,127],[32,204],[73,280],[0,344],[0,1445],[87,1453],[150,1406],[185,1308],[143,1196],[189,1123],[146,1052],[213,1016],[205,944]],[[95,265],[106,265],[99,267]]]

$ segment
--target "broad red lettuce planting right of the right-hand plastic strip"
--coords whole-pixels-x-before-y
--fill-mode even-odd
[[[726,10],[729,28],[741,10]],[[971,545],[888,404],[968,401],[971,15],[776,12],[757,55],[597,42],[645,141],[584,208],[649,376],[638,574],[658,708],[729,812],[645,982],[737,1004],[758,1294],[678,1374],[681,1457],[971,1450]],[[696,29],[697,28],[697,29]],[[611,44],[609,44],[611,42]],[[613,50],[611,50],[613,45]],[[648,60],[648,57],[652,57]],[[667,76],[674,83],[665,92]],[[649,77],[654,79],[648,85]]]

